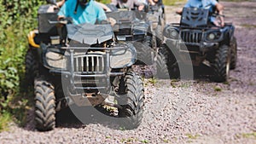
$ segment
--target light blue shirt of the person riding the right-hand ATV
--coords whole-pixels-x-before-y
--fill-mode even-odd
[[[201,8],[201,9],[209,9],[212,12],[213,8],[218,2],[216,0],[189,0],[188,3],[185,4],[185,8]],[[215,20],[214,17],[211,17],[211,21]]]

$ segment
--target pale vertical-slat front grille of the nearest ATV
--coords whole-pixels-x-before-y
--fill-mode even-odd
[[[105,70],[103,55],[79,55],[74,56],[74,72],[84,74],[102,73]]]

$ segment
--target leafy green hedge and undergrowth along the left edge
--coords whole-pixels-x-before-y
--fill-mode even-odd
[[[26,34],[37,23],[38,7],[45,0],[0,0],[0,130],[10,119],[23,124],[28,97],[20,89],[24,77]]]

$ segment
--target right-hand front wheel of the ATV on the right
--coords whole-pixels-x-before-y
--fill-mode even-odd
[[[225,82],[230,75],[230,48],[222,45],[216,52],[213,67],[213,81]]]

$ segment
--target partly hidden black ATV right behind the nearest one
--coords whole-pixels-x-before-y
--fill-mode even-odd
[[[143,11],[116,9],[110,4],[108,7],[112,12],[107,13],[107,17],[115,20],[113,31],[119,42],[132,43],[137,49],[136,65],[152,65],[157,54],[155,28],[158,26],[159,17],[154,16],[155,20],[150,20],[152,16],[146,13],[148,7]]]

